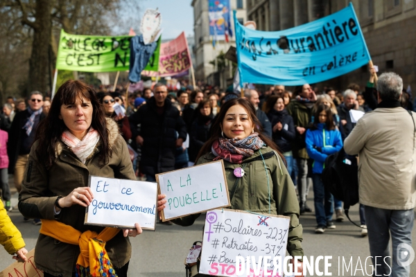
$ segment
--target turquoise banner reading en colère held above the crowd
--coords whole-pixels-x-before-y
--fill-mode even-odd
[[[236,11],[234,24],[241,87],[243,82],[313,84],[371,60],[352,3],[327,17],[276,32],[245,28]]]

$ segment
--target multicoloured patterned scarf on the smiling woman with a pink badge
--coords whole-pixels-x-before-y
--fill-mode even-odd
[[[219,138],[212,143],[211,151],[216,156],[214,161],[225,159],[231,163],[242,163],[245,157],[252,156],[254,150],[259,150],[263,145],[259,134],[252,133],[241,140]]]

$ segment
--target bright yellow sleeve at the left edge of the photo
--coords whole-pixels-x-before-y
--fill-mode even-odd
[[[17,230],[15,224],[13,224],[10,217],[7,215],[7,211],[3,206],[3,202],[0,199],[0,244],[10,254],[14,255],[17,250],[24,247],[23,238],[21,233]]]

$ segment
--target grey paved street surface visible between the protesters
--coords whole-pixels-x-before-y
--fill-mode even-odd
[[[11,183],[12,184],[12,183]],[[12,204],[17,204],[17,194],[12,197]],[[309,202],[313,206],[313,202]],[[18,211],[9,213],[12,221],[21,231],[28,250],[35,247],[40,226],[35,226],[32,222],[24,222],[23,217]],[[358,205],[351,211],[352,220],[359,222]],[[202,226],[205,217],[201,215],[196,224],[189,227],[165,226],[157,224],[157,231],[145,231],[137,238],[133,238],[133,254],[130,260],[129,276],[139,277],[182,277],[184,276],[184,258],[192,243],[202,239]],[[365,258],[370,255],[368,250],[367,238],[361,238],[361,231],[349,222],[338,223],[333,231],[326,231],[323,235],[316,235],[315,217],[313,214],[306,214],[301,217],[304,227],[303,247],[306,256],[333,256],[330,272],[332,276],[353,276],[351,269],[347,273],[342,269],[338,275],[338,256],[350,260],[352,257],[353,268],[356,268],[358,257],[360,257],[363,267]],[[416,231],[413,229],[413,248],[416,249]],[[45,253],[47,255],[47,253]],[[342,259],[342,258],[341,258]],[[0,250],[0,269],[6,268],[13,262],[12,258],[4,251]],[[342,260],[341,260],[342,262]],[[370,262],[370,260],[369,260]],[[358,269],[360,264],[358,262]],[[323,269],[323,267],[320,267]],[[368,272],[370,267],[367,266]],[[412,273],[416,272],[416,262],[413,262]],[[365,272],[364,272],[365,274]],[[362,271],[356,271],[354,276],[365,276]],[[412,275],[410,275],[412,276]],[[414,276],[414,275],[413,275]]]

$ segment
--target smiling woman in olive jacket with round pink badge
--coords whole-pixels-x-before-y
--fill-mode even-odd
[[[230,208],[291,217],[287,250],[293,257],[304,256],[295,187],[277,146],[261,133],[256,111],[248,100],[236,98],[225,102],[196,165],[218,159],[224,161]],[[189,226],[199,215],[172,222]],[[298,265],[297,272],[302,272],[302,260]]]

